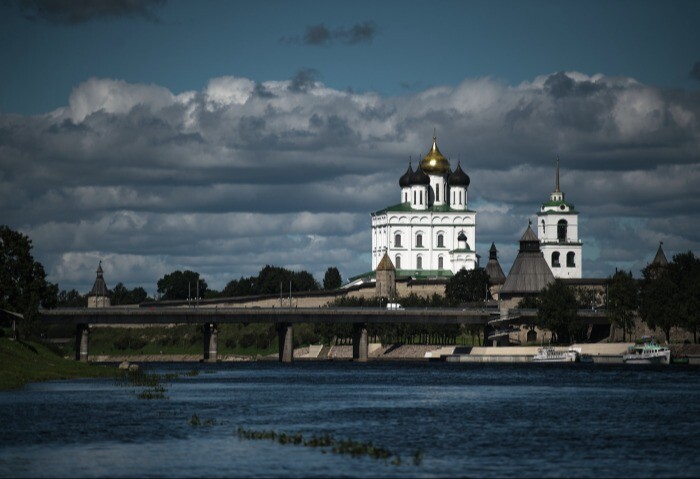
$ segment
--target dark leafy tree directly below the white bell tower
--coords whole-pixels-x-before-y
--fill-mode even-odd
[[[561,279],[542,288],[538,303],[537,326],[551,331],[554,341],[575,341],[581,336],[581,325],[576,321],[576,293]]]

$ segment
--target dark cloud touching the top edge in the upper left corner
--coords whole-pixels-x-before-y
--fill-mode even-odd
[[[19,0],[18,4],[28,20],[76,25],[124,17],[158,21],[156,11],[165,0]]]

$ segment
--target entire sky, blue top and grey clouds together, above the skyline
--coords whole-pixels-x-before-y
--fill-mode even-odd
[[[700,251],[700,2],[4,0],[0,224],[60,289],[371,269],[438,146],[507,273],[554,190],[583,275]]]

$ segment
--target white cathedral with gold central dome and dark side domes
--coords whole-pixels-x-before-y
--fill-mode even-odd
[[[372,213],[372,270],[388,254],[397,277],[449,277],[478,266],[469,176],[433,146],[399,179],[400,203]]]

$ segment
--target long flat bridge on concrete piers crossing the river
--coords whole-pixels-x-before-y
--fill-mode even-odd
[[[90,325],[201,324],[204,326],[203,359],[218,359],[218,325],[269,323],[276,325],[279,360],[292,362],[293,327],[299,323],[350,323],[353,325],[353,360],[368,358],[368,324],[468,324],[486,326],[494,319],[528,323],[536,310],[510,310],[506,315],[493,308],[228,308],[228,307],[108,307],[39,310],[43,324],[76,327],[76,359],[88,360]],[[581,310],[579,320],[608,324],[605,313]]]

